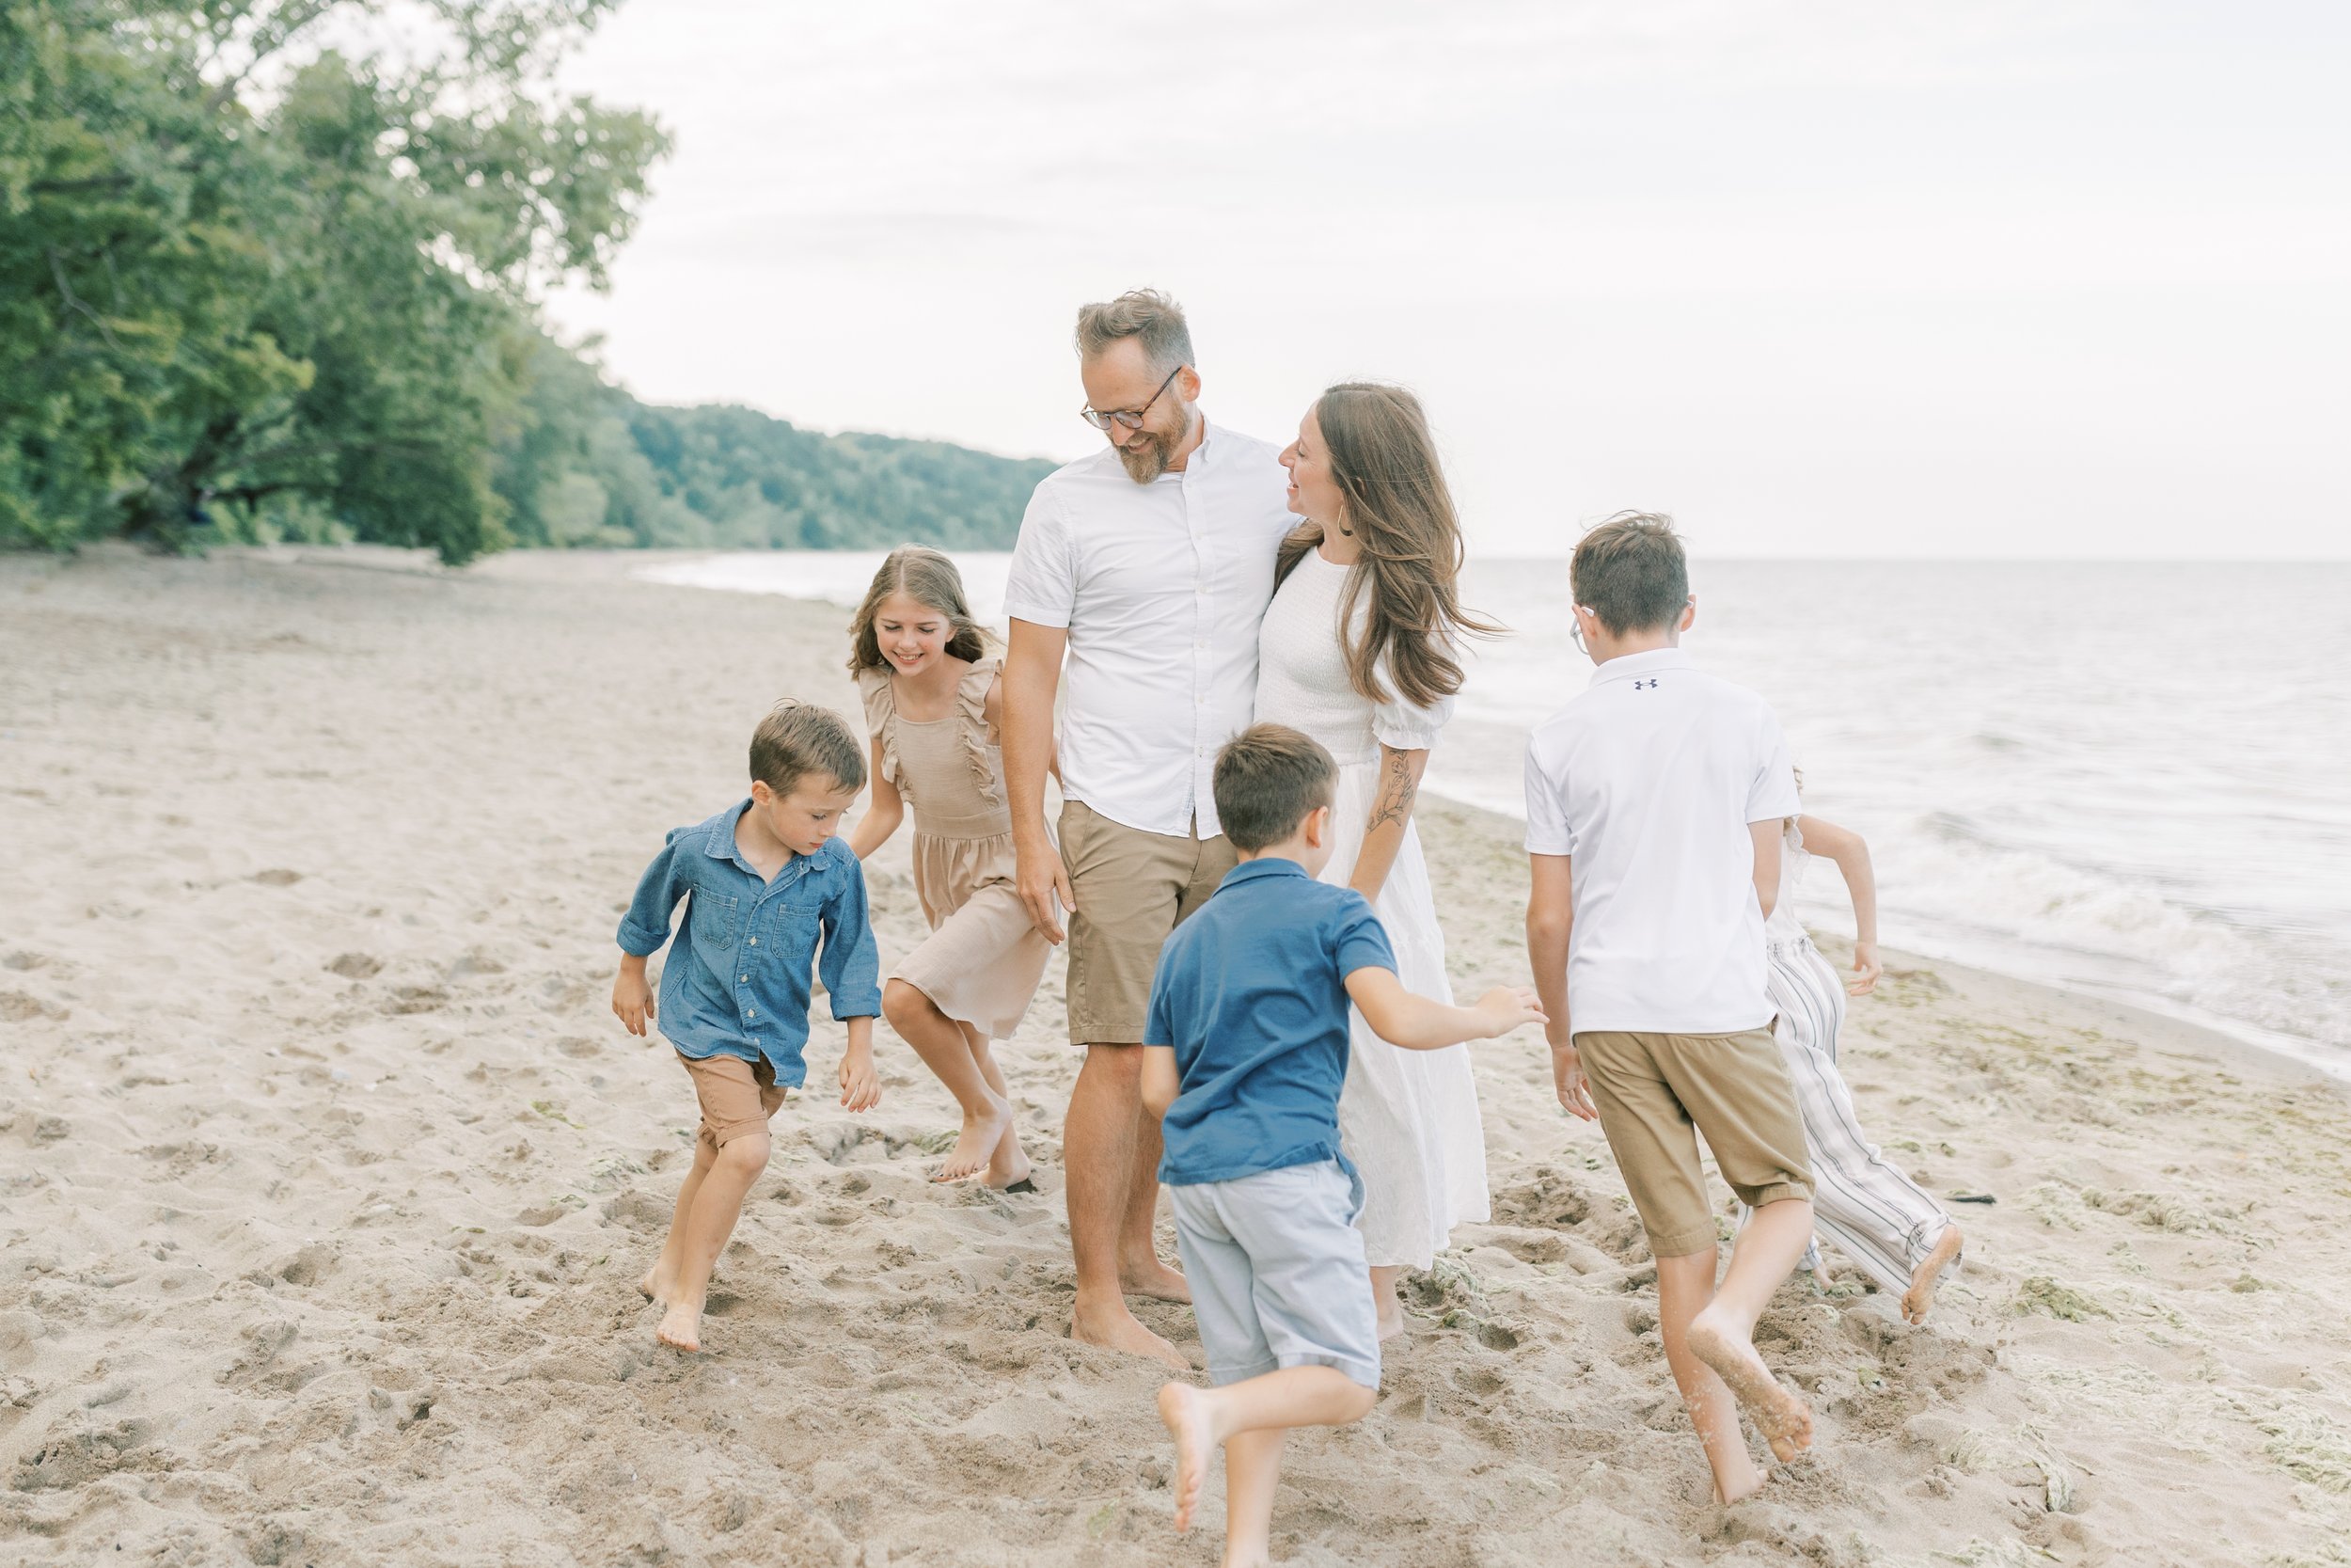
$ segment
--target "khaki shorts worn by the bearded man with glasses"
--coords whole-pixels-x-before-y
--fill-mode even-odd
[[[1143,832],[1084,802],[1060,809],[1070,867],[1070,1044],[1133,1046],[1152,1006],[1159,947],[1237,863],[1225,835]]]

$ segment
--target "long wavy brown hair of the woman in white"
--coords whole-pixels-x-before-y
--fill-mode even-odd
[[[1347,574],[1340,628],[1354,625],[1361,595],[1371,595],[1364,635],[1347,649],[1347,682],[1366,701],[1385,703],[1385,665],[1396,696],[1429,708],[1462,689],[1460,639],[1502,632],[1465,611],[1455,595],[1462,527],[1429,416],[1401,386],[1342,381],[1314,404],[1314,423],[1347,503],[1340,524],[1364,541],[1357,571]],[[1321,538],[1324,527],[1312,520],[1291,529],[1274,557],[1274,585]]]

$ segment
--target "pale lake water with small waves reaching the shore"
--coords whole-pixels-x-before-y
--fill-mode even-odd
[[[957,557],[1002,625],[1009,555]],[[879,552],[644,576],[856,604]],[[1589,679],[1563,562],[1474,559],[1429,788],[1519,816],[1528,724]],[[1761,691],[1860,830],[1893,947],[2095,990],[2351,1074],[2351,564],[1695,562],[1683,646]],[[1799,907],[1850,933],[1815,865]]]

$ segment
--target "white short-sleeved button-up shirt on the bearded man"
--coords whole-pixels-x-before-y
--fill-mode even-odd
[[[1136,484],[1107,444],[1044,477],[1004,611],[1070,630],[1063,797],[1143,832],[1213,837],[1215,752],[1258,703],[1258,623],[1298,520],[1281,449],[1206,428]]]

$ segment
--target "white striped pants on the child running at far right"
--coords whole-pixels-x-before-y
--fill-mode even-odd
[[[1813,1225],[1878,1288],[1909,1291],[1951,1215],[1862,1135],[1853,1091],[1836,1070],[1846,987],[1810,938],[1770,943],[1770,1004],[1780,1013],[1773,1034],[1813,1145]]]

